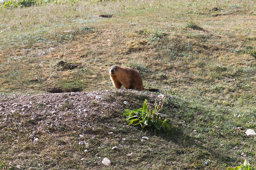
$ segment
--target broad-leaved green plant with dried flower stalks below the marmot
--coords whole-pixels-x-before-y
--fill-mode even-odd
[[[171,130],[170,126],[166,123],[166,119],[163,118],[163,114],[159,113],[160,110],[164,111],[163,103],[164,101],[157,104],[157,101],[155,101],[155,109],[153,110],[148,100],[145,99],[143,108],[125,110],[125,120],[129,121],[129,125],[140,124],[142,128],[145,126],[150,127],[151,125],[154,125],[157,130],[163,129],[164,131],[169,131]]]

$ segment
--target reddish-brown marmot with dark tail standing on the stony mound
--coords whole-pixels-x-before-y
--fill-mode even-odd
[[[145,89],[140,74],[132,68],[111,66],[109,74],[116,89],[120,89],[123,85],[125,89],[159,91],[156,88]]]

